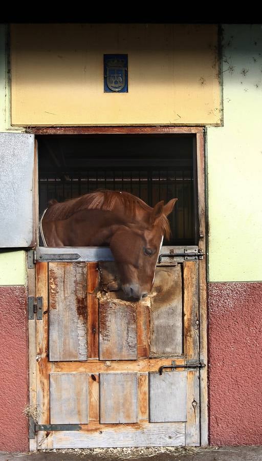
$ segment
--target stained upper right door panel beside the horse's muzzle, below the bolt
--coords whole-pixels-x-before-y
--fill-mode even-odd
[[[151,297],[150,357],[182,354],[181,265],[157,267]]]

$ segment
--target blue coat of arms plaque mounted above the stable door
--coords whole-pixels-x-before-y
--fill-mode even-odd
[[[109,91],[127,92],[127,57],[124,58],[124,55],[107,55],[105,66],[106,86]],[[105,91],[108,92],[108,89],[105,88]]]

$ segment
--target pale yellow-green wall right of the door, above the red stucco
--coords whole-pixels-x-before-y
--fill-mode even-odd
[[[224,127],[207,131],[209,280],[261,281],[261,26],[224,29]]]

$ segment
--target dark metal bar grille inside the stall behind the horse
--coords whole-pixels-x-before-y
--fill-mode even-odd
[[[193,178],[191,170],[154,171],[147,170],[93,170],[85,172],[71,172],[58,177],[50,174],[49,177],[39,179],[40,213],[47,207],[51,199],[59,202],[78,197],[79,195],[94,192],[97,189],[126,191],[140,197],[148,205],[154,206],[158,201],[165,203],[171,198],[178,197],[174,213],[170,216],[172,242],[192,243],[194,240],[193,217]]]

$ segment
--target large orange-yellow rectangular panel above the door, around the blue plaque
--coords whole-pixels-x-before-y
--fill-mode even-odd
[[[128,54],[128,93],[103,92],[103,54]],[[12,124],[217,124],[217,27],[16,24]]]

